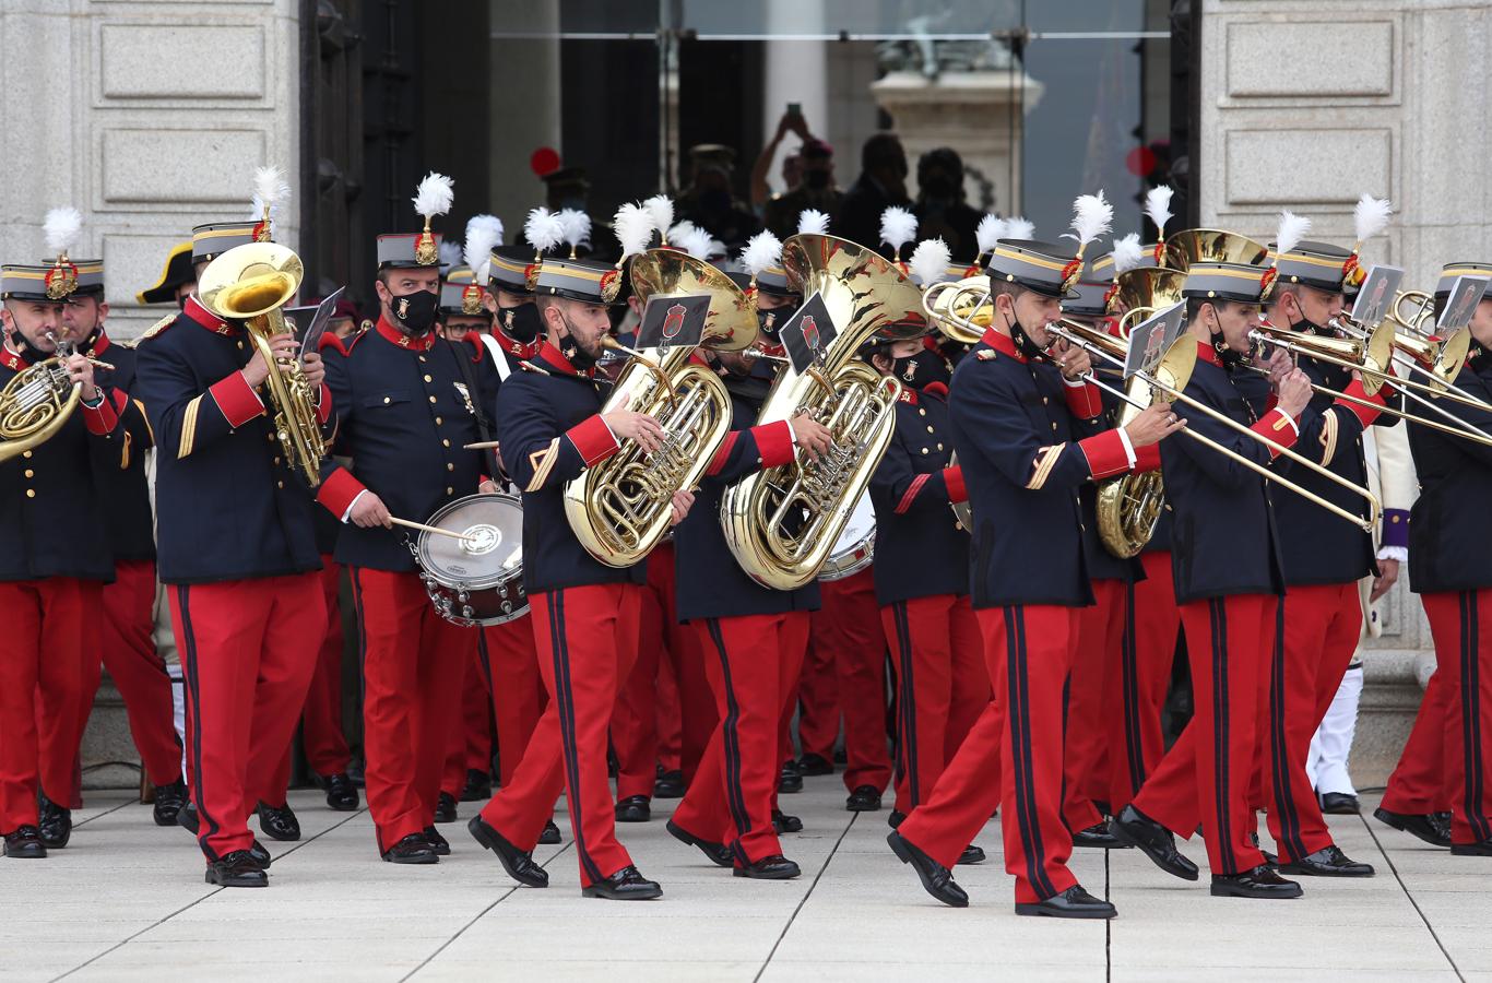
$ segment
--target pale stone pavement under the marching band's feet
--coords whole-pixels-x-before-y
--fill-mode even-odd
[[[515,888],[445,826],[436,867],[382,864],[367,811],[295,792],[304,838],[275,853],[267,891],[204,885],[179,829],[125,794],[91,794],[72,846],[0,859],[0,980],[1483,980],[1492,982],[1492,861],[1452,858],[1374,820],[1331,817],[1379,876],[1306,879],[1300,901],[1212,898],[1134,850],[1083,850],[1074,870],[1119,919],[1016,917],[998,825],[991,859],[958,868],[967,910],[928,898],[885,843],[886,813],[843,811],[837,779],[783,797],[806,831],[785,837],[804,876],[731,877],[653,822],[622,826],[653,902],[582,898],[567,841],[542,847],[551,888]],[[1371,811],[1371,797],[1365,800]],[[463,819],[474,805],[463,804]],[[1186,852],[1204,861],[1200,841]],[[1206,885],[1206,867],[1203,885]]]

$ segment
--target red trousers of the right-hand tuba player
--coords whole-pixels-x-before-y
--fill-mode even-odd
[[[803,649],[809,615],[706,618],[692,628],[706,652],[721,723],[673,822],[695,837],[728,844],[737,865],[780,855],[771,804],[782,767],[783,694],[795,674],[795,659],[783,653]]]

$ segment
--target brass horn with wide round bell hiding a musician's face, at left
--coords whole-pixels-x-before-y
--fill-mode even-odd
[[[207,264],[197,280],[197,300],[224,321],[242,321],[254,351],[270,374],[264,385],[279,439],[291,468],[309,488],[321,483],[321,458],[327,453],[316,421],[316,394],[300,362],[280,365],[270,354],[270,339],[288,331],[282,309],[304,276],[300,257],[288,246],[251,242],[228,249]]]

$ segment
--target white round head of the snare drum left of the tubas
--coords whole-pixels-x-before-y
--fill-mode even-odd
[[[482,589],[524,567],[524,509],[513,495],[467,495],[430,516],[428,525],[466,538],[419,534],[419,565],[439,583]]]

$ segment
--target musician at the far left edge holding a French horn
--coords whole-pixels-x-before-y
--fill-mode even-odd
[[[54,213],[46,222],[57,249],[51,266],[0,267],[0,386],[58,357],[66,339],[64,307],[82,267],[67,258],[78,230],[52,242],[55,221]],[[101,267],[98,276],[101,282]],[[37,797],[73,795],[76,747],[98,683],[100,594],[115,576],[104,495],[124,465],[125,400],[95,382],[81,354],[63,358],[60,368],[79,388],[78,410],[46,440],[0,462],[7,516],[0,606],[9,622],[0,632],[0,853],[16,859],[46,856]],[[46,747],[52,753],[40,753]],[[54,844],[66,846],[70,817],[57,832]]]

